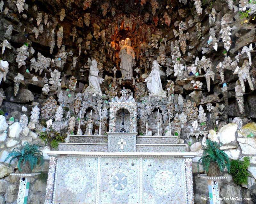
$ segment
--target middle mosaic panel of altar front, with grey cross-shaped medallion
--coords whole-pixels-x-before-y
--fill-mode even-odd
[[[139,159],[101,158],[100,204],[139,203]]]

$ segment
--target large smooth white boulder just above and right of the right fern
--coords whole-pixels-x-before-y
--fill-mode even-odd
[[[237,124],[228,123],[227,125],[224,125],[222,128],[220,128],[217,137],[223,144],[234,142],[236,140],[236,129]]]

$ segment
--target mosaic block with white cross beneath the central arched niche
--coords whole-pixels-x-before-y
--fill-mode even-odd
[[[107,133],[108,152],[136,152],[138,133]]]

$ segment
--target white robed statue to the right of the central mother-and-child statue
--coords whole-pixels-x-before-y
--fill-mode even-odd
[[[166,91],[164,91],[162,87],[160,79],[160,65],[157,60],[153,61],[152,71],[145,79],[145,82],[147,82],[147,88],[150,94],[166,95]]]

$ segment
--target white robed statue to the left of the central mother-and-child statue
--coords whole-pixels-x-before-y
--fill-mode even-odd
[[[103,78],[99,77],[98,63],[96,60],[92,60],[92,65],[90,66],[89,75],[89,86],[85,89],[84,93],[98,93],[102,95],[100,84],[104,81]]]

